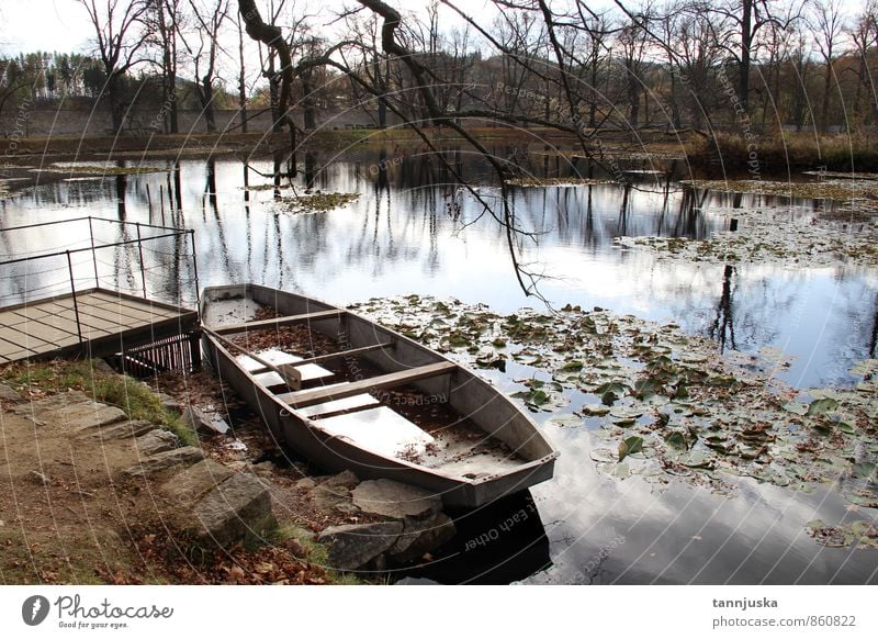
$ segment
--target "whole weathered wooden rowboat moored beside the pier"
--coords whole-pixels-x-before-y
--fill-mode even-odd
[[[204,354],[279,444],[331,471],[476,507],[552,477],[558,452],[503,393],[361,316],[257,284],[201,299]]]

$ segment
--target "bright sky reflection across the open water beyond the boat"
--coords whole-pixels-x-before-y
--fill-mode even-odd
[[[363,152],[358,150],[351,161],[331,165],[318,173],[315,188],[360,192],[361,197],[344,210],[326,214],[275,213],[270,191],[251,192],[247,205],[243,167],[234,161],[216,164],[214,211],[204,197],[206,164],[190,160],[183,161],[181,169],[182,215],[172,212],[168,176],[154,173],[130,176],[122,184],[108,177],[42,187],[5,202],[4,224],[86,213],[117,218],[122,214],[117,192],[124,188],[128,221],[148,222],[147,200],[151,199],[151,221],[160,223],[164,200],[168,224],[176,221],[195,229],[202,285],[250,280],[334,302],[414,291],[484,302],[502,312],[539,305],[521,293],[506,234],[488,215],[479,218],[482,206],[474,198],[455,194],[450,187],[408,187],[447,181],[435,164],[418,159],[391,165],[394,186],[390,191],[376,189],[376,160]],[[464,157],[462,161],[472,160]],[[303,165],[300,161],[300,169]],[[252,166],[263,173],[271,171],[270,162]],[[476,170],[462,166],[469,175]],[[267,181],[250,172],[251,184]],[[492,189],[481,192],[496,197]],[[621,234],[707,237],[728,227],[729,206],[772,203],[756,195],[700,193],[698,198],[706,198],[706,213],[693,212],[675,186],[665,190],[664,184],[649,181],[628,193],[612,184],[515,189],[516,225],[533,233],[532,238],[517,239],[519,261],[541,276],[539,290],[556,305],[601,306],[656,321],[673,320],[690,332],[709,335],[718,317],[722,320],[722,265],[655,260],[612,244]],[[461,206],[458,222],[449,215],[451,202]],[[476,218],[461,229],[461,223]],[[44,227],[29,235],[24,244],[10,247],[7,242],[0,251],[32,250],[40,245],[67,247],[77,242],[81,237],[69,229]],[[176,294],[173,277],[191,279],[189,270],[173,273],[161,268],[160,260],[173,250],[166,244],[162,250],[145,256],[150,279],[162,276],[160,283],[150,285],[156,294]],[[131,250],[104,254],[99,268],[108,274],[137,266],[137,256]],[[83,281],[87,277],[83,270]],[[133,279],[137,278],[123,281]],[[844,380],[849,362],[867,356],[878,296],[874,269],[790,270],[750,265],[734,269],[730,292],[727,348],[733,330],[738,349],[784,349],[796,358],[786,378],[797,385]],[[9,295],[5,290],[3,293]],[[721,332],[714,329],[713,334]]]

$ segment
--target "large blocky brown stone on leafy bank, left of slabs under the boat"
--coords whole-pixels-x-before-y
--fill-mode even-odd
[[[237,473],[216,486],[195,505],[201,538],[219,548],[260,536],[274,523],[271,495],[256,478]]]

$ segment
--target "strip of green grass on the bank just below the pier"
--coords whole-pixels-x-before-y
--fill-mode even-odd
[[[122,408],[130,419],[146,419],[162,426],[180,438],[183,446],[198,444],[198,436],[146,384],[98,368],[93,360],[54,360],[7,366],[0,380],[19,392],[56,394],[68,390],[86,393],[98,402]],[[26,395],[25,395],[26,396]]]

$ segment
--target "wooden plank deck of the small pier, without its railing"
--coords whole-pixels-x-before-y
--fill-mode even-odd
[[[198,312],[104,289],[0,309],[0,363],[106,357],[198,328]]]

